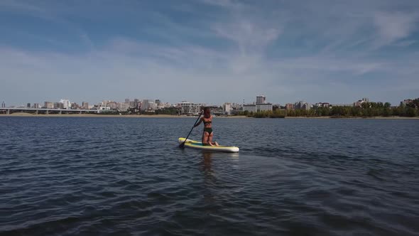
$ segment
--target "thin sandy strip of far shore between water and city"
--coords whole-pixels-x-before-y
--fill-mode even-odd
[[[12,114],[0,114],[0,117],[124,117],[124,118],[185,118],[187,116],[178,116],[172,114],[31,114],[25,112],[15,112]],[[195,116],[196,117],[196,116]],[[230,116],[217,118],[252,118],[246,116]],[[263,118],[253,118],[263,119]],[[275,119],[275,118],[264,118]],[[419,117],[285,117],[285,119],[419,119]]]

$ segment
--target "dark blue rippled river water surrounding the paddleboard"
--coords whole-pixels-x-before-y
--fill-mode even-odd
[[[0,117],[0,234],[418,235],[419,121],[193,122]]]

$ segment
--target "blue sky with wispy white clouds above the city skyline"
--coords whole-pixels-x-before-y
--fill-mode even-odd
[[[398,104],[419,1],[0,0],[0,102]]]

